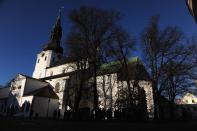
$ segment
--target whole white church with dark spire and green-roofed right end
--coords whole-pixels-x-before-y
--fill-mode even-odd
[[[61,13],[51,31],[50,40],[37,54],[32,77],[18,74],[6,87],[8,94],[2,97],[0,89],[0,112],[15,116],[52,117],[54,111],[64,117],[65,110],[70,110],[75,101],[74,92],[78,85],[75,79],[77,70],[75,59],[63,55],[61,46]],[[129,60],[131,78],[139,77],[139,88],[144,92],[146,110],[153,117],[153,93],[149,75],[138,57]],[[120,64],[111,62],[103,64],[97,73],[97,91],[100,108],[116,109],[118,104],[124,108],[123,94],[126,81],[121,77]],[[86,86],[83,88],[79,108],[93,109],[92,76],[85,71]],[[134,80],[131,80],[131,87]],[[136,90],[136,89],[134,89]],[[138,89],[137,89],[138,90]],[[2,104],[3,103],[3,104]],[[138,101],[136,101],[138,103]],[[119,105],[120,106],[120,105]]]

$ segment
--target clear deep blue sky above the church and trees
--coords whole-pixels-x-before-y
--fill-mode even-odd
[[[68,13],[82,5],[120,11],[124,15],[122,26],[138,44],[153,15],[160,15],[161,27],[179,26],[188,37],[197,33],[185,0],[0,0],[0,85],[18,73],[31,76],[36,55],[49,41],[59,8],[64,6],[63,43],[71,25]]]

